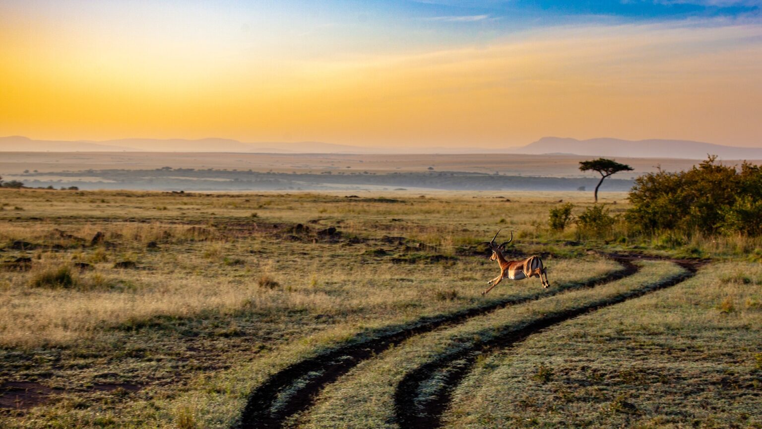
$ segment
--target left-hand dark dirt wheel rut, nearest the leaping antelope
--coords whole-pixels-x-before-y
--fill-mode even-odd
[[[507,298],[492,302],[488,305],[468,308],[463,311],[456,311],[446,316],[434,316],[430,318],[421,318],[412,327],[400,328],[398,331],[389,334],[379,334],[379,336],[363,340],[357,344],[350,344],[330,350],[319,356],[295,363],[287,368],[280,370],[264,383],[259,385],[248,397],[245,408],[235,424],[236,429],[250,428],[279,428],[283,426],[284,421],[299,412],[310,408],[315,402],[315,396],[322,389],[339,377],[348,373],[350,369],[357,366],[363,360],[370,359],[376,353],[381,353],[392,345],[402,343],[415,335],[425,334],[440,327],[448,327],[454,324],[462,323],[469,318],[474,318],[491,311],[505,308],[508,305],[523,304],[525,302],[536,301],[541,298],[547,298],[559,292],[565,292],[574,289],[588,289],[596,285],[602,285],[613,282],[625,277],[632,276],[640,269],[633,264],[629,258],[619,258],[609,256],[622,265],[621,269],[609,273],[606,276],[600,276],[574,285],[568,285],[562,289],[553,289],[547,293],[526,298]],[[306,379],[310,374],[312,378]],[[278,400],[278,393],[294,385],[299,380],[305,380],[303,386],[290,395],[284,403],[273,411],[272,408]]]

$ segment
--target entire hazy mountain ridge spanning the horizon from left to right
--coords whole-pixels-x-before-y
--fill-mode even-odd
[[[212,146],[212,147],[210,147]],[[516,153],[527,155],[620,156],[628,158],[706,159],[708,154],[725,160],[762,160],[762,147],[732,147],[694,140],[623,140],[597,137],[542,137],[521,147],[359,147],[318,141],[256,142],[220,137],[201,139],[123,138],[114,140],[34,140],[24,136],[0,137],[0,152],[231,152],[231,153]]]

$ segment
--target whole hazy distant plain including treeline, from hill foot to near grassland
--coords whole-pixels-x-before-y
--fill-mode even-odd
[[[551,191],[591,190],[568,154],[347,154],[182,152],[3,152],[0,174],[30,187],[173,191]],[[601,191],[622,192],[658,168],[690,169],[698,160],[617,158],[634,168],[607,179]],[[741,161],[725,160],[728,164]]]

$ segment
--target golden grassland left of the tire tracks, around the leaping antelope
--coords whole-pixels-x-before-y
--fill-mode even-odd
[[[758,247],[549,231],[549,209],[581,211],[584,194],[345,194],[0,190],[0,383],[66,389],[3,424],[229,427],[248,392],[291,363],[374,329],[543,291],[529,279],[479,295],[498,274],[483,253],[498,229],[498,240],[513,231],[517,255],[546,255],[554,286],[616,269],[590,250],[752,259]],[[602,199],[621,213],[625,196]],[[297,224],[309,233],[291,237]],[[328,227],[337,240],[319,238]],[[709,320],[757,311],[757,277],[722,273]]]

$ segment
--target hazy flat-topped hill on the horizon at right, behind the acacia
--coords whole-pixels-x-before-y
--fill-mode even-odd
[[[685,158],[703,160],[707,153],[725,160],[762,160],[762,148],[732,147],[690,140],[620,140],[616,138],[543,137],[532,144],[517,147],[514,153],[570,153],[586,156],[623,156],[629,158]]]

